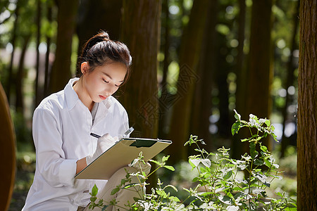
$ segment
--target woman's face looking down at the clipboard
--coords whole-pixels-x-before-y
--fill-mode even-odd
[[[104,101],[115,93],[125,79],[127,68],[122,63],[110,63],[97,66],[92,71],[86,63],[83,68],[84,86],[88,96],[95,103]],[[86,68],[86,71],[85,71]]]

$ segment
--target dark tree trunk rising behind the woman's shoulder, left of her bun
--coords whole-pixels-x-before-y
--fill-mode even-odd
[[[57,6],[56,53],[49,83],[50,93],[63,89],[71,77],[70,56],[72,54],[78,0],[57,0]]]

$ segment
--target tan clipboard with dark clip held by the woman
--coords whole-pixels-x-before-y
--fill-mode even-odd
[[[76,174],[75,179],[110,179],[121,167],[128,166],[142,152],[144,161],[154,158],[172,141],[161,139],[123,138],[108,148],[85,169]]]

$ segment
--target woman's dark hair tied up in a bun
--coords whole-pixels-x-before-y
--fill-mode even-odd
[[[132,57],[128,47],[120,41],[113,41],[109,38],[107,32],[100,31],[99,34],[90,38],[82,48],[82,55],[79,58],[79,67],[77,68],[77,77],[82,76],[80,65],[83,62],[89,64],[89,71],[93,71],[97,66],[102,66],[107,63],[123,63],[127,68],[123,84],[130,77],[130,65]]]

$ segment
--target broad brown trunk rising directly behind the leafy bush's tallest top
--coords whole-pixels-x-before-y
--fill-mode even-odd
[[[247,113],[269,117],[271,113],[271,8],[272,0],[253,1],[247,80]],[[263,144],[271,149],[268,139]]]

